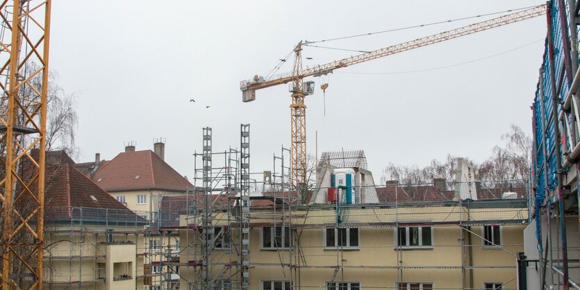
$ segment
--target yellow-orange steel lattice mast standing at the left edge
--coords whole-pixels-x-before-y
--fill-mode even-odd
[[[3,290],[42,289],[50,10],[51,0],[0,3]]]

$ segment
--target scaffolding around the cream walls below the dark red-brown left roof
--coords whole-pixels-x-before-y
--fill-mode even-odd
[[[69,219],[49,217],[45,228],[44,283],[49,289],[100,288],[108,279],[135,280],[138,289],[160,289],[165,274],[154,271],[154,266],[163,259],[163,243],[151,212],[92,207],[69,210]],[[135,262],[131,264],[135,272],[108,277],[107,261],[127,253],[127,247],[134,256],[126,262]]]

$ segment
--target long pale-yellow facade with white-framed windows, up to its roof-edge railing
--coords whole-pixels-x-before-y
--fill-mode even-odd
[[[211,225],[201,223],[200,212],[182,211],[180,287],[198,289],[210,276],[213,287],[240,288],[241,242],[249,243],[249,289],[516,289],[527,199],[454,201],[451,188],[522,191],[522,182],[443,186],[444,196],[434,184],[375,187],[387,201],[354,205],[292,204],[292,194],[252,197],[248,241],[240,241],[237,203],[214,210]],[[408,199],[388,201],[398,192]]]

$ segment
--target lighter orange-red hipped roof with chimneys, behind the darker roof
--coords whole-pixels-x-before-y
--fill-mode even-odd
[[[185,191],[193,185],[151,150],[119,153],[99,167],[94,180],[106,191]]]

